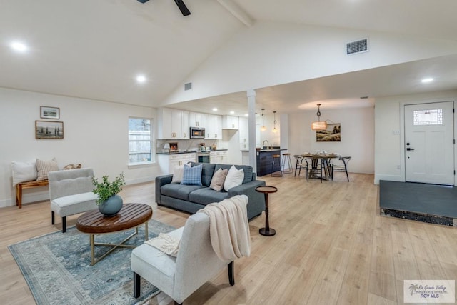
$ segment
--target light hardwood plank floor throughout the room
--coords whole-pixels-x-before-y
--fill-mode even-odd
[[[404,279],[457,279],[455,228],[379,215],[373,175],[336,173],[335,181],[293,174],[260,177],[278,187],[270,195],[276,236],[251,227],[251,256],[235,262],[235,286],[226,271],[201,286],[185,304],[403,304]],[[153,218],[182,226],[188,214],[157,208],[154,183],[126,186],[124,202],[154,208]],[[6,248],[61,229],[51,226],[49,201],[0,209],[0,303],[34,304]],[[74,225],[77,216],[67,220]],[[121,250],[122,251],[122,250]],[[172,304],[159,294],[150,304]]]

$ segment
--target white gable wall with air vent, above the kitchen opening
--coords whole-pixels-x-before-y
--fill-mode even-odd
[[[369,51],[346,56],[346,43],[363,38],[369,39]],[[428,59],[456,51],[457,41],[257,21],[233,36],[177,85],[164,104]],[[193,89],[184,91],[187,82],[192,82]]]

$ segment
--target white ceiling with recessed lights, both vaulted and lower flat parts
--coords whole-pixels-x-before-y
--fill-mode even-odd
[[[184,2],[189,16],[172,0],[0,0],[0,86],[158,106],[226,41],[263,21],[457,41],[455,0]],[[16,53],[11,41],[22,41],[29,50]],[[443,56],[257,88],[257,98],[284,112],[314,110],[321,100],[339,107],[352,99],[351,106],[360,106],[366,103],[356,102],[361,94],[457,89],[456,68],[457,55]],[[441,81],[412,84],[409,76],[424,70]],[[136,83],[139,74],[146,76],[144,84]],[[246,108],[244,92],[175,106],[201,110],[209,101],[220,104],[221,114]]]

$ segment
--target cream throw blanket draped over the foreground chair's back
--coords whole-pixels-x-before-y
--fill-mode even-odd
[[[199,210],[209,216],[211,245],[222,261],[251,254],[247,204],[248,196],[237,195]]]

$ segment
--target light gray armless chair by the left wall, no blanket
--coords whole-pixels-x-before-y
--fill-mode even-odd
[[[48,173],[51,224],[54,224],[55,213],[61,216],[62,232],[66,231],[66,216],[98,208],[98,196],[92,193],[93,176],[92,169],[68,169]]]

